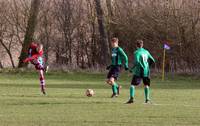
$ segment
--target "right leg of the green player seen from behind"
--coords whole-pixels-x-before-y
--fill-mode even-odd
[[[145,96],[145,103],[150,102],[150,78],[144,77],[144,96]]]

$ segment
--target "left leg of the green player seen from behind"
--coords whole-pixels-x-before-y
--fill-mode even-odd
[[[131,104],[134,102],[134,98],[135,98],[135,87],[137,85],[139,85],[141,83],[141,78],[137,77],[137,76],[133,76],[132,78],[132,82],[131,82],[131,86],[130,86],[130,99],[128,100],[128,102],[126,102],[127,104]]]

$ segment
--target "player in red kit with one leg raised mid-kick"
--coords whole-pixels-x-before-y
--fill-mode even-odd
[[[48,66],[46,68],[44,67],[43,45],[32,42],[28,49],[28,58],[26,58],[24,62],[31,62],[35,66],[36,70],[38,70],[40,76],[41,92],[45,95],[46,92],[44,72],[47,72]]]

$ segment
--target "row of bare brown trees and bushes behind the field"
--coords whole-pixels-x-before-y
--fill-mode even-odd
[[[130,63],[144,40],[166,70],[199,72],[200,0],[0,0],[0,66],[26,67],[31,41],[44,45],[53,67],[99,69],[109,64],[110,39],[118,37]]]

